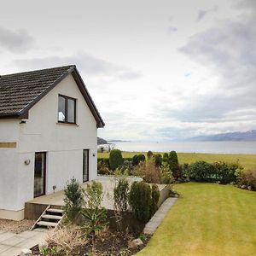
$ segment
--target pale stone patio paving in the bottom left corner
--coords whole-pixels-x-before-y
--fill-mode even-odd
[[[30,249],[44,241],[48,230],[36,229],[15,234],[0,230],[0,256],[17,256],[22,249]]]

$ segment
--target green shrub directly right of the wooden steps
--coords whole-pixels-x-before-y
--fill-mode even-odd
[[[65,218],[67,221],[73,222],[78,217],[84,203],[84,190],[74,177],[67,182],[63,201],[65,203]]]

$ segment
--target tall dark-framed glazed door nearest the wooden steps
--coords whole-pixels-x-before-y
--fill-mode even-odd
[[[46,152],[35,154],[34,197],[45,195]]]

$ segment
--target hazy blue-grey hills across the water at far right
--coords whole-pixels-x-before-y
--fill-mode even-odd
[[[256,130],[219,133],[215,135],[191,137],[193,142],[251,142],[256,141]]]

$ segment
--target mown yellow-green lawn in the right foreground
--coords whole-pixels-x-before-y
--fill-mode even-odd
[[[256,192],[182,183],[172,209],[138,256],[256,255]]]

